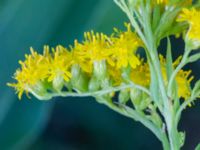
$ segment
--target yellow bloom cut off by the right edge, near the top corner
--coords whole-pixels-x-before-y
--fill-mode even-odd
[[[189,40],[200,41],[200,11],[195,8],[184,8],[179,15],[177,21],[186,21],[189,23],[189,30],[187,32],[187,38]]]

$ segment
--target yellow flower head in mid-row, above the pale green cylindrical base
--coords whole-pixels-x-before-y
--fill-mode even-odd
[[[73,51],[73,59],[77,62],[85,72],[91,73],[95,61],[106,60],[110,65],[114,65],[111,59],[113,54],[109,49],[110,43],[108,37],[103,33],[85,32],[84,41],[78,43],[75,41]]]

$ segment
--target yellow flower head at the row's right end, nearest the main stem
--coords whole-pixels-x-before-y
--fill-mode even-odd
[[[127,67],[128,65],[132,68],[136,68],[140,65],[140,60],[136,56],[136,51],[143,44],[136,33],[131,31],[131,25],[126,24],[126,27],[126,32],[120,32],[115,29],[117,37],[111,37],[113,43],[113,59],[116,61],[116,67],[118,69]]]

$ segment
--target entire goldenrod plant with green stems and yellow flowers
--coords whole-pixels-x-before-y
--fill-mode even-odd
[[[191,86],[188,63],[200,59],[200,1],[115,0],[127,15],[126,31],[106,35],[85,32],[82,42],[56,48],[19,61],[14,74],[19,99],[25,92],[39,100],[56,96],[92,96],[112,110],[141,122],[165,150],[179,150],[185,133],[178,130],[182,111],[200,96],[200,81]],[[167,22],[166,22],[167,21]],[[170,36],[182,36],[185,50],[174,59]],[[166,55],[159,53],[167,39]],[[139,55],[140,51],[145,56]],[[199,146],[200,147],[200,146]],[[199,148],[197,146],[197,149]]]

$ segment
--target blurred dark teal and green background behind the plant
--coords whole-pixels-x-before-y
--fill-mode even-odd
[[[123,29],[126,16],[112,0],[0,0],[0,150],[160,150],[156,137],[92,98],[21,101],[6,83],[33,46],[67,46],[84,31],[110,34]],[[181,53],[183,42],[173,38]],[[162,48],[162,46],[161,46]],[[190,66],[198,77],[198,62]],[[187,132],[183,149],[200,142],[200,104],[187,109],[180,129]]]

